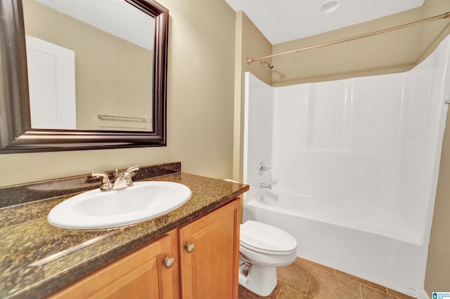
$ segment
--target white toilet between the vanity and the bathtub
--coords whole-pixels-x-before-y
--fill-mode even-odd
[[[284,230],[248,220],[240,225],[239,284],[260,296],[276,287],[276,267],[297,257],[297,241]]]

